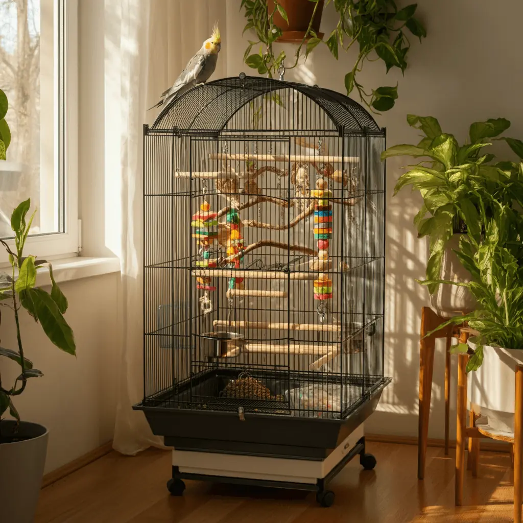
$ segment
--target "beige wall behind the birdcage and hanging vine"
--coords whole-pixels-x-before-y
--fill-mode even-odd
[[[523,62],[518,35],[523,3],[520,0],[505,0],[495,6],[477,0],[418,0],[417,3],[428,36],[421,45],[411,38],[410,67],[405,77],[399,71],[385,75],[384,66],[378,62],[366,63],[359,75],[359,82],[369,90],[399,83],[396,106],[376,117],[379,125],[387,128],[388,144],[417,140],[417,132],[406,124],[407,113],[437,117],[442,128],[455,133],[460,141],[467,137],[471,122],[505,117],[512,122],[509,134],[521,138]],[[246,33],[242,40],[239,28],[244,25],[237,2],[228,0],[227,26],[238,28],[234,35],[231,31],[228,33],[226,52],[230,76],[241,71],[253,74],[253,70],[242,63],[246,41],[252,39]],[[334,25],[331,5],[325,10],[321,30],[328,35]],[[295,48],[285,46],[288,55],[292,49]],[[336,62],[326,47],[317,47],[304,66],[288,71],[285,77],[344,92],[344,75],[354,60],[352,50],[349,54],[340,54]],[[507,151],[501,145],[498,150]],[[384,392],[380,410],[369,419],[366,430],[416,435],[420,309],[428,304],[428,299],[424,289],[414,281],[423,277],[426,264],[425,242],[417,239],[412,224],[419,197],[404,190],[392,198],[400,167],[406,163],[405,158],[390,161],[386,178],[385,372],[394,382]],[[437,347],[430,437],[442,437],[444,431],[443,350],[443,346]],[[455,371],[455,361],[453,364]],[[455,390],[454,380],[452,405]],[[454,416],[451,418],[455,425]]]

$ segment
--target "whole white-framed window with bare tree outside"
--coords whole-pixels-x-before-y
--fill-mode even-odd
[[[30,197],[27,253],[76,253],[75,0],[0,0],[0,87],[12,132],[0,162],[0,237],[12,236],[10,214]]]

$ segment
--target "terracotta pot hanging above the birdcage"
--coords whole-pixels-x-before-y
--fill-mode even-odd
[[[275,9],[274,0],[267,0],[268,12],[272,13]],[[278,42],[301,42],[305,36],[305,32],[309,28],[309,24],[314,12],[315,3],[310,0],[279,0],[278,2],[285,12],[289,23],[282,18],[276,11],[274,14],[274,24],[279,27],[283,34],[278,38]],[[316,14],[312,22],[312,29],[318,36],[323,38],[323,33],[320,33],[320,23],[322,21],[324,0],[319,0]]]

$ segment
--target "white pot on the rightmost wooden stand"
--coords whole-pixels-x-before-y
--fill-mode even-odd
[[[472,342],[469,346],[475,349]],[[468,377],[472,410],[485,416],[491,429],[508,434],[514,434],[517,365],[523,365],[523,350],[485,345],[481,367]]]

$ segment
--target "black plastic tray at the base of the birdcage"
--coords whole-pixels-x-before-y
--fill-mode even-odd
[[[285,386],[292,386],[292,378],[271,378],[266,383],[273,387],[272,393],[281,394]],[[218,410],[217,405],[207,408],[206,403],[195,408],[195,397],[203,401],[204,394],[209,398],[219,395],[229,379],[220,371],[207,372],[133,408],[144,411],[153,433],[178,450],[324,459],[376,410],[384,387],[391,381],[380,378],[340,419],[290,415],[285,395],[282,401],[270,405],[274,413],[267,412],[267,401],[257,405],[255,400],[231,399],[237,410],[221,398],[219,405],[228,410]],[[184,408],[185,402],[188,408]]]

